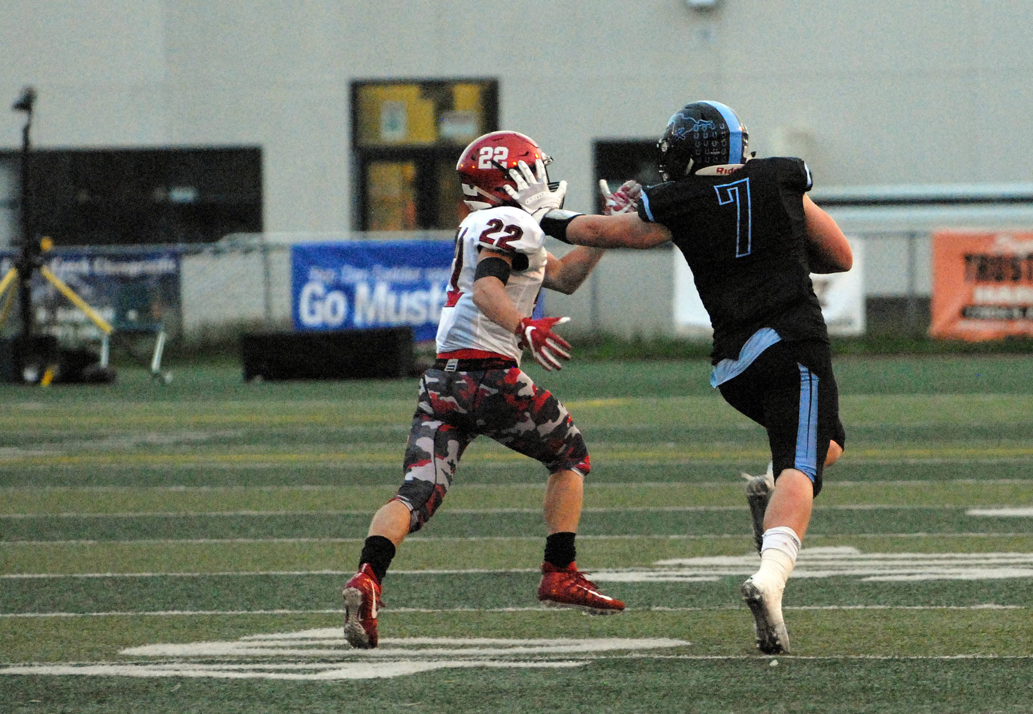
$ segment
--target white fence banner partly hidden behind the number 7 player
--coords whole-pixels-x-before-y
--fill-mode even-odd
[[[865,334],[865,244],[850,240],[853,250],[853,268],[848,273],[811,275],[814,293],[821,304],[821,314],[828,325],[828,334],[854,336]],[[675,256],[675,332],[687,337],[710,337],[713,334],[710,316],[703,308],[692,271],[680,250]]]

